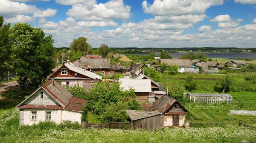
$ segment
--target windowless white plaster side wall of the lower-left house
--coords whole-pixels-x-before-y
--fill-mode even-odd
[[[82,113],[64,110],[62,112],[62,117],[63,117],[62,120],[76,121],[78,123],[81,123]]]

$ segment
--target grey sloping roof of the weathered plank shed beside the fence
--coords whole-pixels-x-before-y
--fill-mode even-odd
[[[148,118],[156,115],[161,115],[157,110],[154,111],[137,111],[137,110],[125,110],[125,112],[129,115],[132,121],[143,119],[143,118]]]

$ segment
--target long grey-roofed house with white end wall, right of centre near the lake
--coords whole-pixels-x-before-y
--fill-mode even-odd
[[[177,65],[180,73],[199,73],[199,66],[191,64],[190,59],[160,59],[160,63],[165,62],[167,66]]]

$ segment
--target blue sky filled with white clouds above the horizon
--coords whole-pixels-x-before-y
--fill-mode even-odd
[[[55,47],[256,47],[256,0],[0,0],[5,22],[27,22]]]

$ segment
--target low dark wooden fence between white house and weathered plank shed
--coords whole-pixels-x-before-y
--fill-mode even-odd
[[[124,129],[125,127],[132,128],[132,123],[119,122],[119,123],[85,123],[82,122],[82,127],[84,129],[95,128],[95,129]]]

